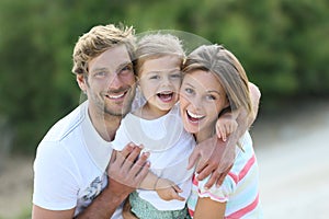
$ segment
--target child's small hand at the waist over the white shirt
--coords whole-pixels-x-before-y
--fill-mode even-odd
[[[163,200],[185,200],[185,198],[179,195],[179,193],[182,193],[183,191],[178,185],[173,184],[171,181],[168,181],[166,178],[159,178],[156,186],[158,195]]]

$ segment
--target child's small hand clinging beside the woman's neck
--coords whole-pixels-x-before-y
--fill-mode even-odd
[[[237,120],[229,115],[222,115],[216,122],[216,134],[223,141],[227,140],[227,137],[238,128]]]

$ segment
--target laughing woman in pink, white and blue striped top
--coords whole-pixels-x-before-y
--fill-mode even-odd
[[[249,82],[237,58],[223,46],[201,46],[188,57],[180,92],[184,128],[201,142],[215,134],[215,123],[223,112],[241,108],[253,120]],[[254,90],[252,91],[254,92]],[[232,169],[220,187],[204,188],[206,180],[193,177],[188,200],[194,219],[261,218],[259,171],[252,140],[247,131],[238,143]]]

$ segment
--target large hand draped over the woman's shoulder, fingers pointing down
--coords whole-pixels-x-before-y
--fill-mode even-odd
[[[193,168],[198,161],[196,165],[197,180],[203,180],[212,174],[205,184],[206,188],[212,187],[215,183],[217,186],[222,185],[232,166],[236,147],[235,145],[227,146],[228,143],[229,141],[224,142],[214,136],[198,143],[190,155],[188,169]]]

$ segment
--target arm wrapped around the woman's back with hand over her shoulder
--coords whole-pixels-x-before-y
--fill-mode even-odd
[[[228,137],[227,141],[224,142],[214,136],[198,143],[190,155],[188,168],[192,168],[198,161],[196,166],[196,172],[200,173],[198,180],[212,174],[205,187],[212,187],[214,183],[219,186],[223,183],[235,160],[235,146],[257,117],[261,93],[253,83],[249,83],[249,90],[252,114],[247,115],[247,111],[241,110],[237,118],[238,129]]]

